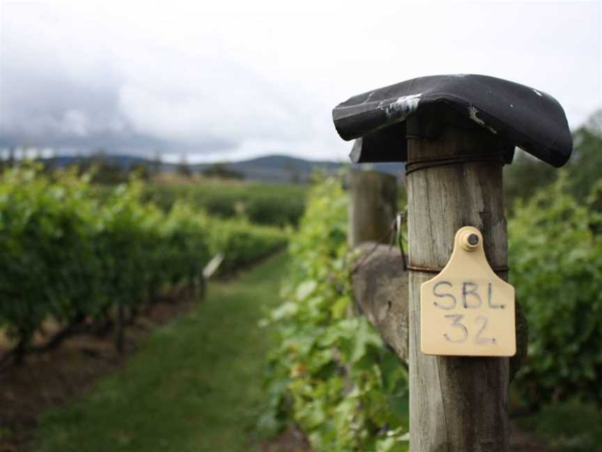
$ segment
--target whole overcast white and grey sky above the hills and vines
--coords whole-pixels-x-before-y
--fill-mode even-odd
[[[546,91],[574,128],[602,106],[601,5],[2,1],[0,147],[344,159],[332,107],[448,73]]]

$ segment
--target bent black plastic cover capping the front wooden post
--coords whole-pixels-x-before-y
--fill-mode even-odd
[[[332,110],[344,140],[362,138],[354,163],[407,159],[406,118],[448,108],[555,167],[569,160],[573,140],[564,110],[547,93],[487,75],[419,77],[353,96]]]

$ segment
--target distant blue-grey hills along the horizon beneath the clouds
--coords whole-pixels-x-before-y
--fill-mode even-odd
[[[137,156],[57,156],[45,159],[45,163],[56,167],[67,167],[70,165],[88,165],[94,159],[102,159],[105,163],[121,169],[128,170],[135,166],[145,166],[148,169],[156,169],[157,163],[146,158]],[[203,172],[215,165],[215,163],[196,163],[189,165],[193,173]],[[330,160],[304,160],[290,156],[263,156],[251,158],[249,160],[240,160],[239,162],[220,163],[226,169],[238,172],[247,180],[270,181],[270,182],[305,182],[312,173],[317,170],[332,173],[344,167],[344,163]],[[350,164],[349,164],[350,165]],[[353,167],[369,167],[378,172],[384,172],[398,176],[403,169],[403,163],[374,163],[363,165],[350,165]],[[175,172],[178,169],[177,163],[161,163],[160,169],[164,172]]]

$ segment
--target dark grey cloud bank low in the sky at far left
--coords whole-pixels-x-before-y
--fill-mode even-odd
[[[92,76],[77,77],[52,52],[27,54],[4,41],[0,40],[0,148],[215,153],[239,144],[203,133],[190,142],[138,130],[121,108],[124,80],[108,64],[99,64]]]

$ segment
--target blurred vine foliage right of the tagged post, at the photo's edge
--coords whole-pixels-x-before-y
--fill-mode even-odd
[[[579,201],[561,173],[509,221],[511,283],[529,325],[513,384],[533,406],[574,396],[602,407],[602,181]]]

